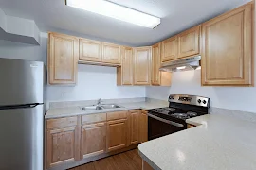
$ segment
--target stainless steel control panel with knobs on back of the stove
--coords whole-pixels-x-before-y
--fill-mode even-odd
[[[210,105],[210,98],[196,95],[171,94],[169,95],[168,101],[203,107],[208,107]]]

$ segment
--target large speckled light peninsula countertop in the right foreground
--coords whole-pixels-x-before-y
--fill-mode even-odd
[[[196,125],[138,145],[139,155],[160,170],[255,170],[256,124],[210,113]]]

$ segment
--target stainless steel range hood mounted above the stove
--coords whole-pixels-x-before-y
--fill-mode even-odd
[[[160,67],[162,72],[182,72],[189,70],[201,69],[200,66],[201,56],[193,56],[186,59],[176,59],[170,62],[163,63]]]

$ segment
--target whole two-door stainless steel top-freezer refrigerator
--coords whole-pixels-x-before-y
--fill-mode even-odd
[[[0,170],[43,170],[46,68],[0,59]]]

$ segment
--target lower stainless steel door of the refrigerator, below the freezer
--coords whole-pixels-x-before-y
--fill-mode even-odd
[[[43,170],[43,105],[0,110],[0,170]]]

